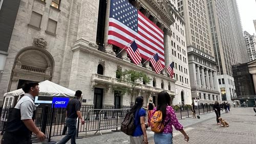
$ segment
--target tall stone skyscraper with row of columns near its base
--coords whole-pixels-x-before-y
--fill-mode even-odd
[[[220,100],[206,0],[178,1],[184,15],[192,99]]]

